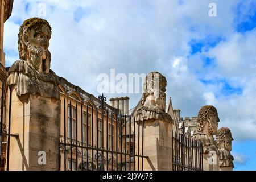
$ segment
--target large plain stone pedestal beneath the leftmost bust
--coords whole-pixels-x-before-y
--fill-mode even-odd
[[[13,86],[14,87],[14,86]],[[26,94],[11,102],[9,170],[57,170],[59,165],[60,101]]]

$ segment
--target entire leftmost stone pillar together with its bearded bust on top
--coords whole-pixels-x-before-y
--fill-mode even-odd
[[[50,69],[51,26],[26,20],[19,32],[20,60],[9,69],[11,87],[9,170],[57,170],[59,167],[59,80]],[[10,92],[9,92],[10,95]],[[8,107],[9,108],[9,107]]]

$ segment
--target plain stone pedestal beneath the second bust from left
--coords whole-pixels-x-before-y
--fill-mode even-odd
[[[140,121],[140,148],[142,147],[142,121]],[[138,124],[138,122],[137,122]],[[138,126],[135,130],[138,136]],[[138,137],[136,137],[138,150]],[[138,152],[138,151],[135,151]],[[172,170],[172,121],[150,119],[144,120],[144,171],[171,171]],[[141,170],[140,161],[140,170]]]

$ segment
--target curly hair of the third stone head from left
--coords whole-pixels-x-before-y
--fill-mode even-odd
[[[217,109],[212,105],[205,105],[201,107],[197,117],[197,131],[202,132],[206,122],[210,121],[213,115],[218,115]],[[219,122],[219,120],[217,121]],[[211,123],[209,123],[211,127]]]

